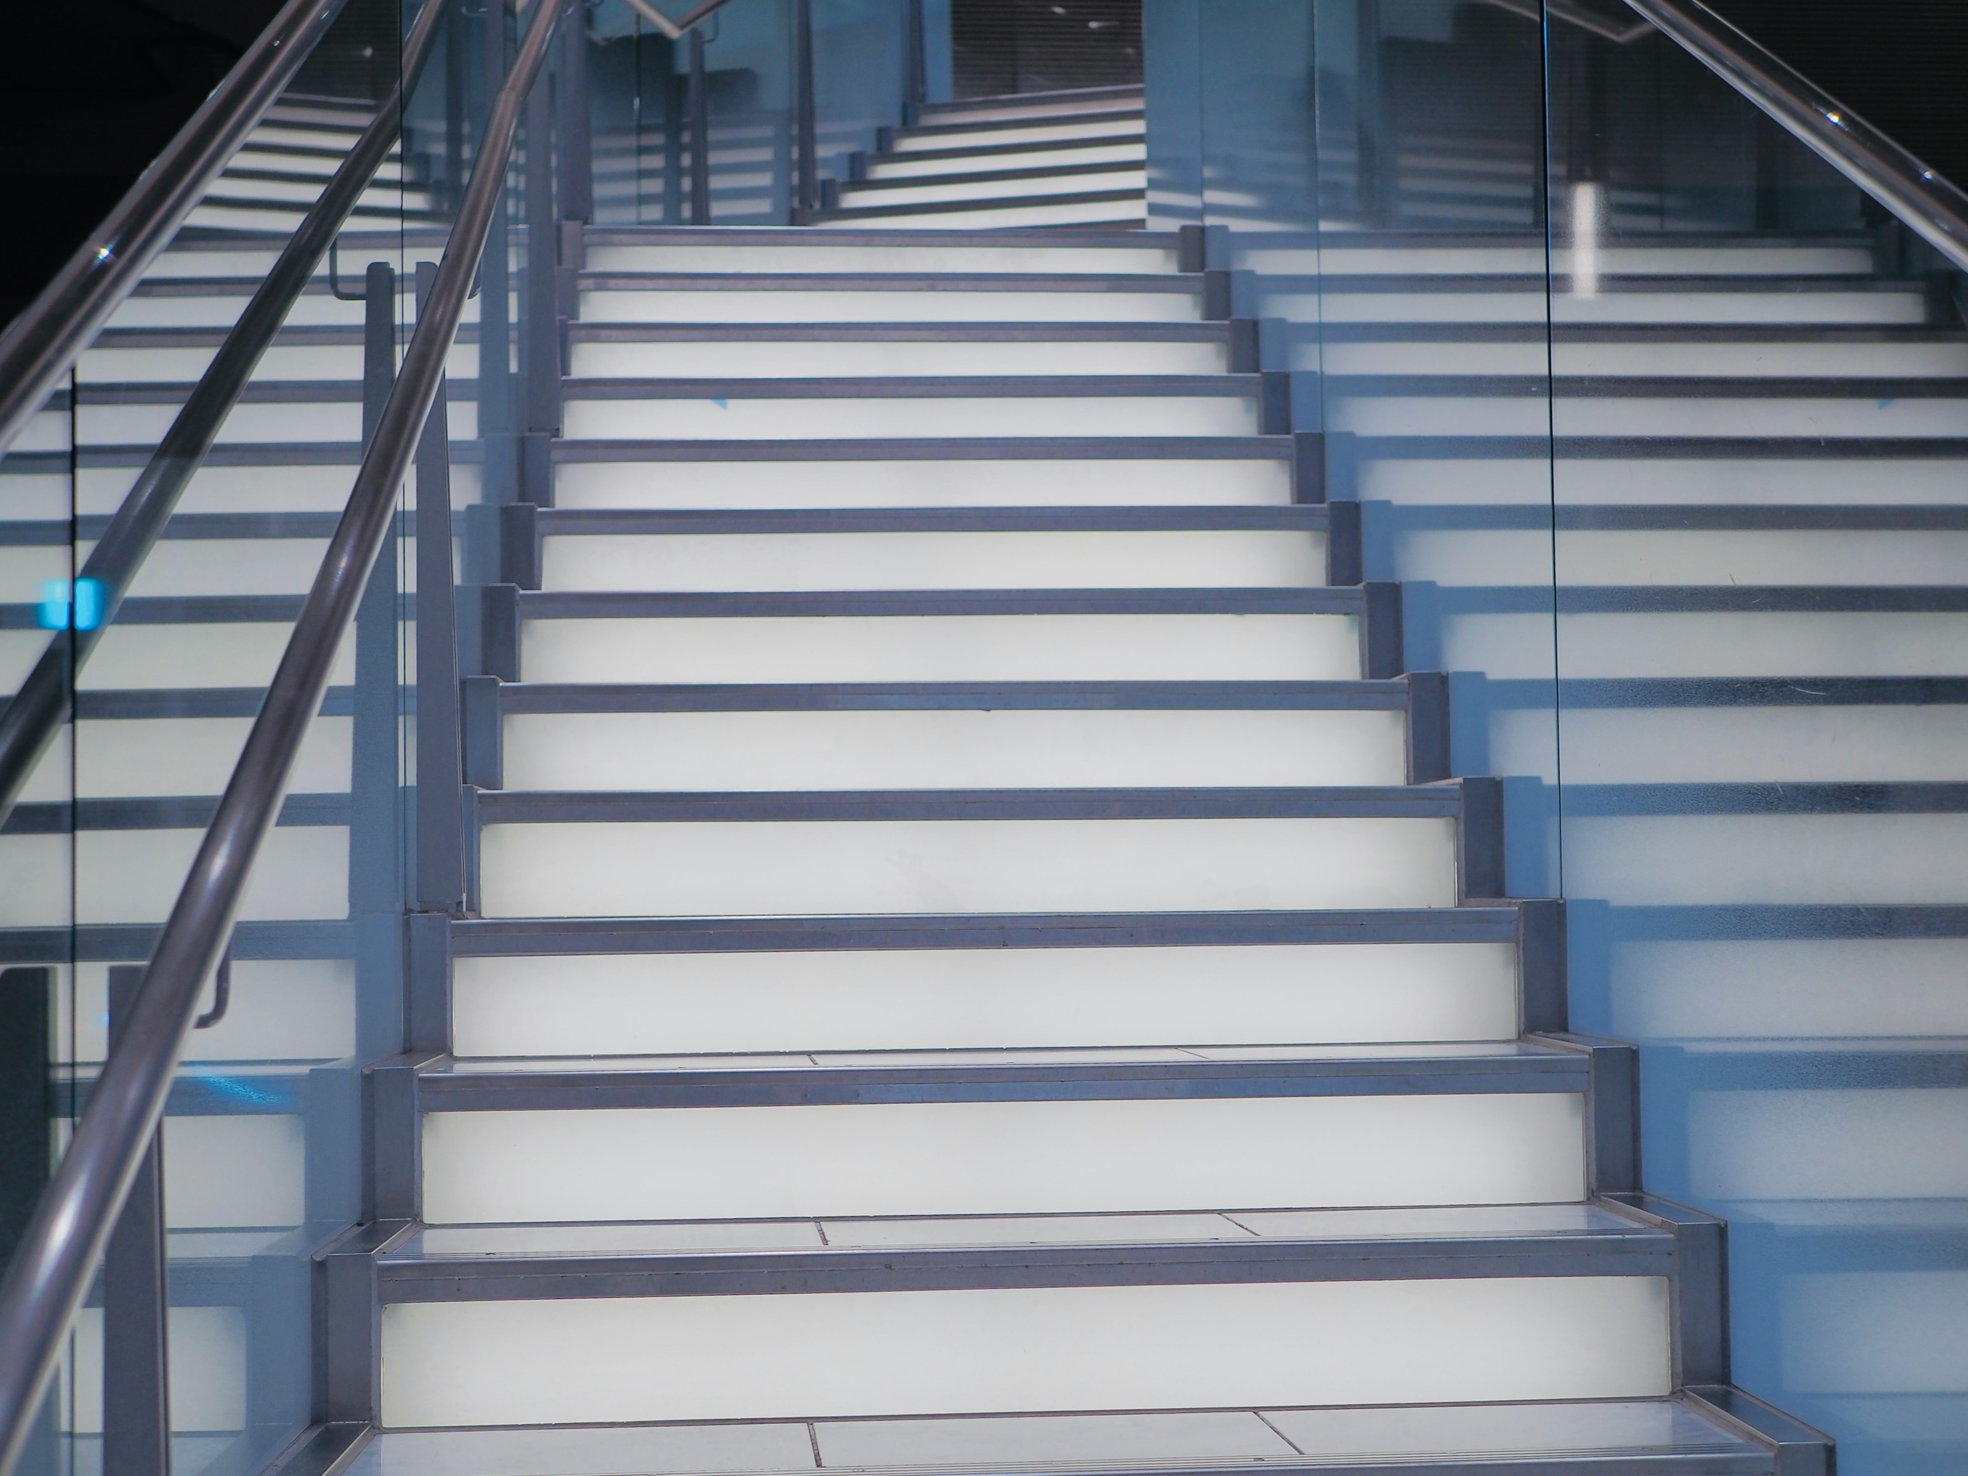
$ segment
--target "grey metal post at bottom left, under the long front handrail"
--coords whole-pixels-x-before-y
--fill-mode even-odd
[[[110,968],[110,1045],[144,984],[132,964]],[[102,1476],[169,1476],[171,1378],[163,1258],[163,1128],[130,1185],[102,1256]]]

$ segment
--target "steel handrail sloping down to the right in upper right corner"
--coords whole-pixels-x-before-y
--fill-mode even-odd
[[[1968,272],[1968,195],[1700,0],[1626,4]]]

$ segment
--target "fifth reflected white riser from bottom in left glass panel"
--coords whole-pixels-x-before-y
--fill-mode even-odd
[[[289,793],[346,793],[350,718],[317,716]],[[252,718],[87,718],[41,758],[24,801],[218,795],[232,777]]]

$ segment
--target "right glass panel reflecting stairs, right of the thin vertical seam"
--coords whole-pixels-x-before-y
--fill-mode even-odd
[[[1736,1382],[1940,1468],[1960,277],[1630,22],[1549,31],[1572,1023],[1643,1043],[1647,1187],[1730,1220]]]

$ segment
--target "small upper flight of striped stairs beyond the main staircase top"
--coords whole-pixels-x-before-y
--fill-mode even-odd
[[[1141,224],[1139,87],[923,102],[884,128],[848,177],[823,181],[819,226],[1015,228]]]

